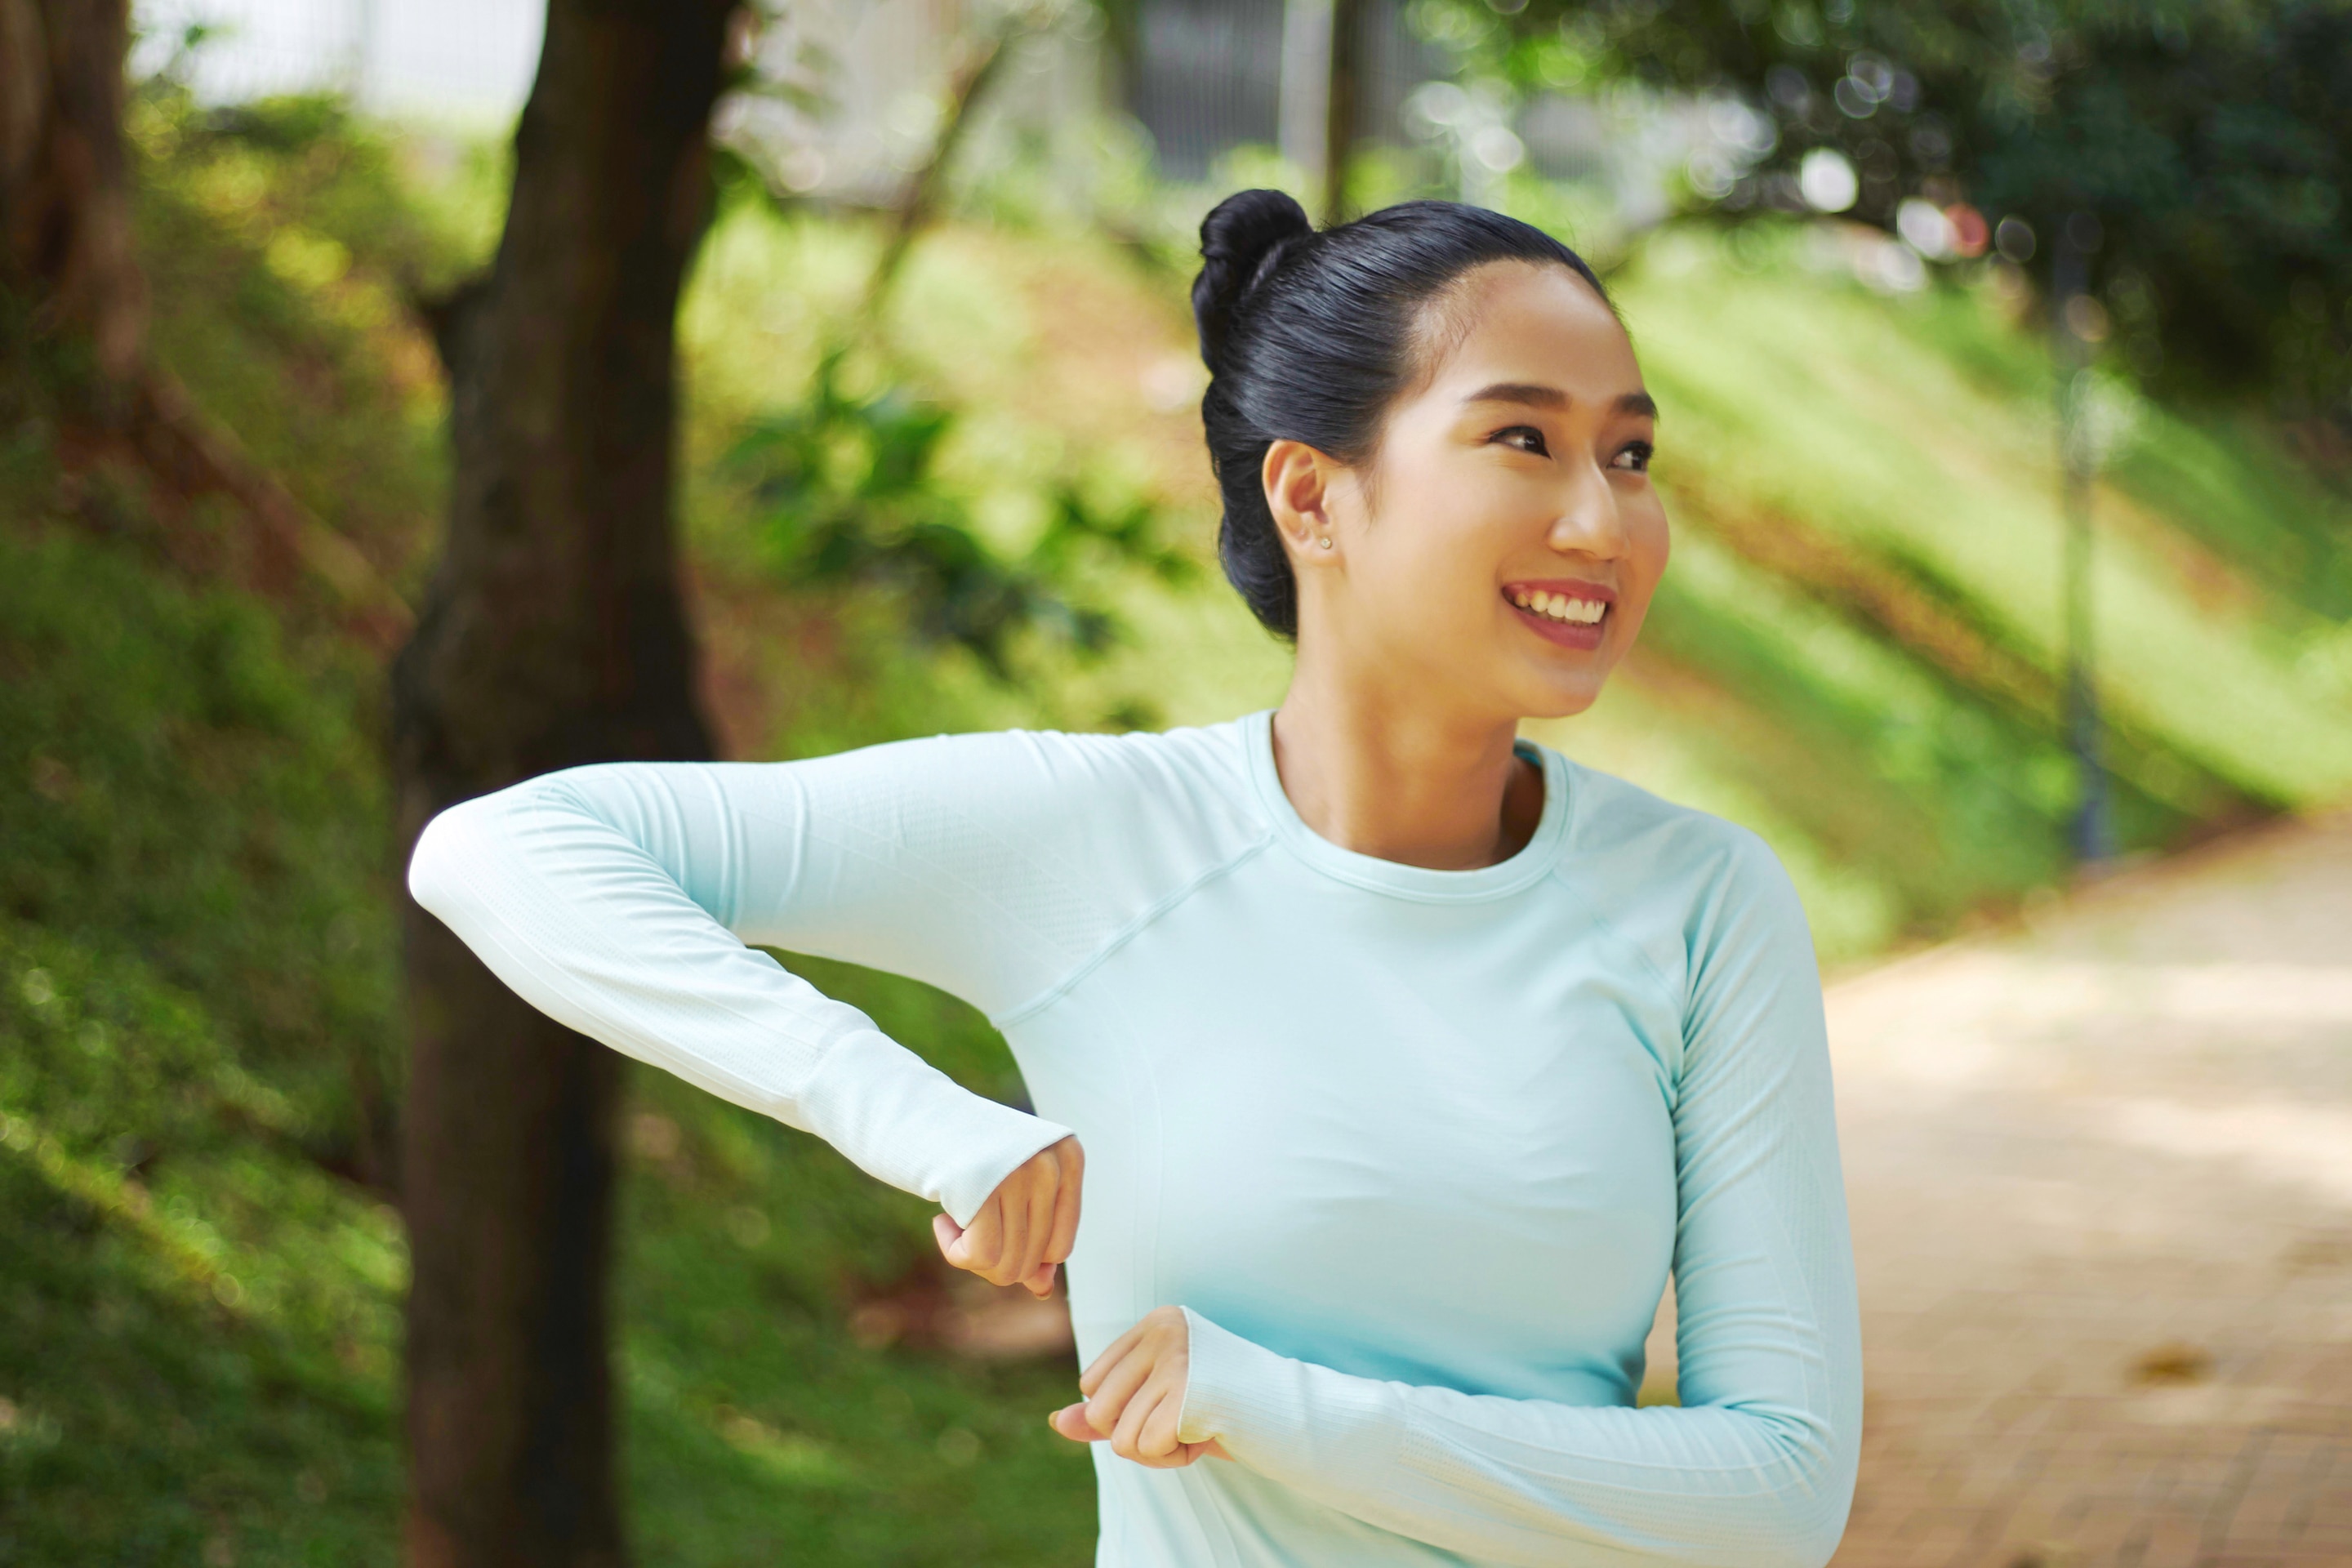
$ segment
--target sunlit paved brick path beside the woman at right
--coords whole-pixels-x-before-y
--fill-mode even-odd
[[[1830,990],[1839,1568],[2352,1568],[2352,816]]]

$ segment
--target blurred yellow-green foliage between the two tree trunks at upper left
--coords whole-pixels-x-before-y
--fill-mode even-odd
[[[132,99],[151,346],[195,402],[414,592],[447,475],[442,374],[414,301],[487,256],[482,148],[395,143],[334,99]],[[412,195],[419,162],[452,197]]]

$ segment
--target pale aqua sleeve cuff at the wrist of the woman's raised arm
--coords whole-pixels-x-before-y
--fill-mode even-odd
[[[1070,1135],[1058,1121],[971,1093],[880,1030],[837,1039],[797,1112],[861,1171],[931,1199],[957,1225],[971,1225],[1030,1154]]]

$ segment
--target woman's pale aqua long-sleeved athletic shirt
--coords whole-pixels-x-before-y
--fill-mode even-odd
[[[1232,1455],[1094,1443],[1101,1566],[1818,1568],[1860,1326],[1780,863],[1529,741],[1519,853],[1362,856],[1270,719],[579,766],[440,813],[409,889],[560,1023],[957,1222],[1077,1133],[1080,1361],[1183,1307],[1178,1436]],[[746,943],[967,999],[1037,1114]],[[1682,1403],[1635,1408],[1670,1269]]]

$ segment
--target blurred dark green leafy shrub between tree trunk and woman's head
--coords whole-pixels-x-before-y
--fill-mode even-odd
[[[1091,557],[1145,567],[1162,583],[1190,581],[1192,557],[1160,543],[1155,503],[1096,508],[1068,475],[1054,480],[1044,534],[1021,555],[997,550],[971,505],[941,482],[955,414],[903,386],[844,393],[847,353],[830,348],[809,397],[748,421],[724,458],[755,496],[774,571],[790,590],[882,588],[917,635],[953,642],[1011,679],[1011,644],[1023,632],[1080,654],[1101,654],[1117,637],[1112,611],[1082,597]]]

